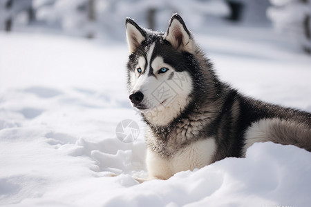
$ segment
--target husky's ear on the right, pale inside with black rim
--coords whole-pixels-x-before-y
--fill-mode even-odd
[[[177,50],[193,51],[194,41],[191,32],[189,32],[185,22],[178,14],[173,14],[173,17],[171,17],[165,39]]]

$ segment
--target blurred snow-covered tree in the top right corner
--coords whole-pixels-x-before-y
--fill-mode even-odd
[[[305,52],[311,54],[311,0],[270,0],[267,16],[274,27],[292,34]]]

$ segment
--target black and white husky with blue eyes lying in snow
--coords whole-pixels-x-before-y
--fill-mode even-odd
[[[129,99],[147,124],[149,179],[244,157],[254,142],[311,151],[311,114],[241,95],[221,82],[178,14],[167,32],[126,19]]]

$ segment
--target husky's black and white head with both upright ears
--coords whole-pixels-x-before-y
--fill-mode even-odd
[[[127,18],[126,37],[129,99],[150,124],[165,126],[191,101],[191,68],[197,64],[192,34],[174,14],[163,33],[141,28]]]

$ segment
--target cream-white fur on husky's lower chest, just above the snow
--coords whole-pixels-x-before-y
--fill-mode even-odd
[[[169,179],[176,172],[194,170],[211,164],[216,151],[215,139],[203,139],[189,144],[164,159],[157,152],[147,150],[147,168],[150,179]]]

